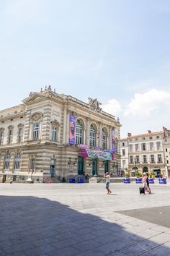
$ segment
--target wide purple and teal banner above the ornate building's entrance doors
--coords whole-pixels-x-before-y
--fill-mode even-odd
[[[103,160],[113,160],[113,153],[102,151],[102,150],[92,150],[89,148],[80,148],[81,155],[84,158],[99,158]]]

